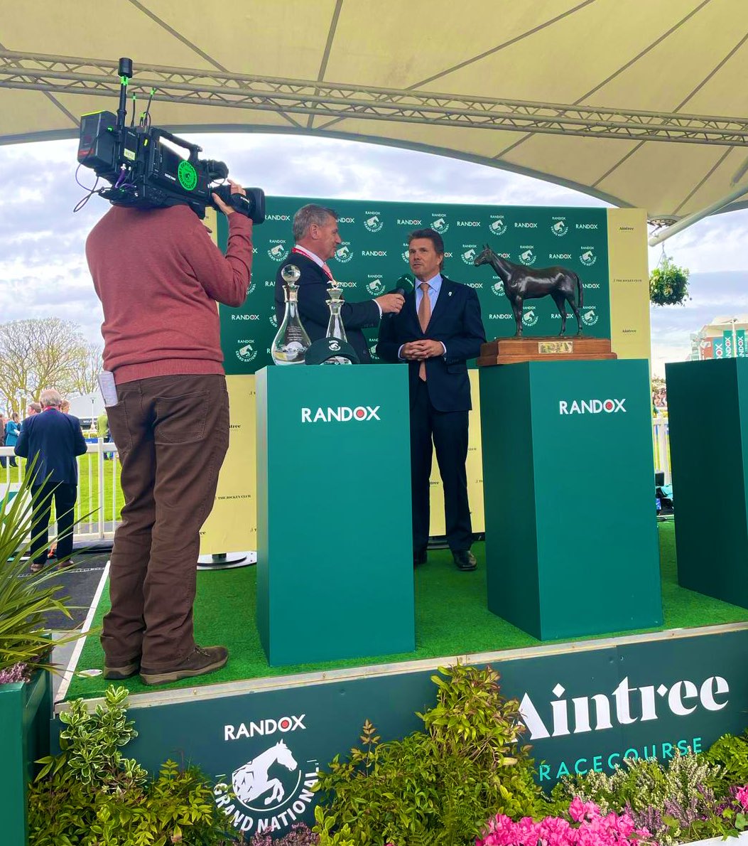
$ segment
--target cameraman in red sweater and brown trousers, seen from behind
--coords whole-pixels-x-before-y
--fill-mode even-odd
[[[232,183],[232,193],[244,190]],[[104,309],[104,367],[116,384],[106,411],[125,498],[101,635],[104,678],[139,672],[145,684],[165,684],[228,658],[224,646],[195,644],[193,603],[199,530],[228,447],[216,302],[238,306],[247,296],[252,221],[213,200],[228,217],[225,257],[185,205],[113,206],[86,241]]]

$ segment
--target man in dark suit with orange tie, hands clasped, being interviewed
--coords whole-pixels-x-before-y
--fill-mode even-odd
[[[458,569],[476,566],[467,502],[467,412],[472,408],[467,360],[485,343],[478,296],[441,275],[444,242],[434,229],[408,237],[416,277],[401,312],[382,321],[377,354],[407,362],[411,401],[413,566],[426,560],[432,443],[444,483],[446,536]]]

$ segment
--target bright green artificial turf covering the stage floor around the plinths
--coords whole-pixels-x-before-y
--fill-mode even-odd
[[[674,524],[669,521],[660,523],[658,527],[663,629],[748,621],[748,609],[687,591],[678,585],[675,572]],[[538,645],[541,641],[489,612],[486,607],[484,544],[475,544],[473,552],[478,558],[478,570],[475,573],[461,573],[457,570],[448,550],[429,552],[429,563],[415,571],[415,652],[285,667],[269,667],[259,644],[259,635],[254,625],[256,569],[244,567],[223,572],[201,571],[198,573],[198,596],[195,603],[195,639],[204,645],[227,645],[230,659],[227,666],[217,673],[198,679],[184,679],[182,682],[168,685],[168,689]],[[101,618],[108,608],[108,598],[103,596],[96,611],[95,626],[101,625]],[[382,608],[381,618],[362,620],[362,625],[386,624],[386,608]],[[324,637],[325,621],[319,620],[317,625],[318,636]],[[660,629],[644,629],[658,630]],[[609,632],[598,637],[614,634],[637,633]],[[310,635],[308,621],[303,623],[303,636],[313,636]],[[78,669],[84,671],[102,666],[103,653],[98,637],[88,637]],[[143,684],[138,676],[118,684],[124,684],[133,693],[154,690]],[[106,686],[107,683],[101,675],[76,677],[68,689],[67,698],[99,696]]]

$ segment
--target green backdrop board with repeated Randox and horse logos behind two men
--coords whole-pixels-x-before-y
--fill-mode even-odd
[[[294,212],[308,202],[338,213],[343,243],[330,268],[342,283],[345,298],[371,299],[395,288],[409,270],[407,235],[432,227],[445,241],[445,273],[475,288],[487,338],[513,335],[514,318],[500,280],[488,265],[472,260],[485,243],[494,252],[532,267],[561,265],[576,272],[584,285],[581,311],[584,332],[610,337],[608,231],[605,209],[543,206],[468,206],[268,197],[265,223],[254,228],[252,281],[239,309],[221,306],[221,343],[228,374],[248,374],[270,364],[270,343],[277,332],[273,294],[276,272],[293,247]],[[227,221],[219,215],[219,244],[226,248]],[[567,331],[576,332],[570,314]],[[549,297],[527,302],[528,336],[555,335],[560,316]],[[374,354],[376,330],[369,331]]]

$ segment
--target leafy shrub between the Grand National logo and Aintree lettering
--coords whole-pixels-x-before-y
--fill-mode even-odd
[[[529,746],[519,744],[519,704],[500,694],[499,674],[464,666],[440,673],[432,677],[436,706],[418,714],[424,731],[380,743],[367,721],[363,748],[320,773],[320,846],[458,846],[474,843],[496,813],[542,811]]]

